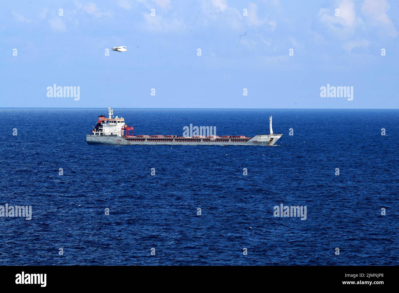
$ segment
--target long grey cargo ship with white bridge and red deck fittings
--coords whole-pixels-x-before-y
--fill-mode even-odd
[[[273,134],[272,116],[269,117],[270,134],[258,134],[252,137],[245,135],[136,135],[132,126],[125,124],[124,118],[114,117],[114,110],[108,108],[108,118],[98,116],[97,125],[91,134],[86,135],[87,144],[144,144],[144,145],[183,145],[183,146],[273,146],[282,134]],[[202,126],[201,126],[202,127]]]

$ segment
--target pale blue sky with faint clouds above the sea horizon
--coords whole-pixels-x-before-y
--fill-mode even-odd
[[[398,16],[392,0],[6,1],[0,107],[399,108]]]

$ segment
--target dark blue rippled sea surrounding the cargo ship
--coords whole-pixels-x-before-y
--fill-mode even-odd
[[[0,265],[399,264],[399,110],[114,109],[135,134],[253,136],[273,115],[273,147],[87,145],[100,114],[0,108],[0,205],[32,206],[0,217]]]

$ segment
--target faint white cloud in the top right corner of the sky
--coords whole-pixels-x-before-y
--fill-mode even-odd
[[[398,31],[386,13],[388,10],[386,0],[365,0],[361,6],[361,12],[372,26],[382,28],[383,33],[390,37],[397,37]]]

